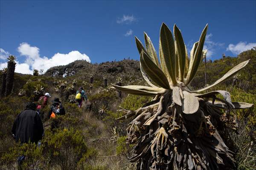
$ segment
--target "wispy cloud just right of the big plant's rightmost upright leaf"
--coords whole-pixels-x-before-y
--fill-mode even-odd
[[[224,47],[224,43],[212,41],[211,40],[212,36],[213,36],[212,33],[207,34],[204,41],[204,49],[207,50],[207,55],[206,55],[207,58],[211,58],[212,55],[215,54],[215,51],[217,48]]]

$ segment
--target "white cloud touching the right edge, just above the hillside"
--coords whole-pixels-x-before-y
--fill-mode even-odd
[[[239,42],[238,44],[230,44],[227,47],[227,51],[231,51],[233,54],[239,54],[243,51],[250,50],[255,47],[256,43]]]

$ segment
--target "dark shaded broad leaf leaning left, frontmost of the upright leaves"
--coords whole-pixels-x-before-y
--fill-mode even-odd
[[[168,79],[163,71],[142,51],[140,54],[140,63],[145,73],[162,88],[170,89]]]

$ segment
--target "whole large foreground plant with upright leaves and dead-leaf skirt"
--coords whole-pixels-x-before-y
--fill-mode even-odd
[[[253,104],[231,102],[227,91],[201,94],[244,68],[249,60],[236,65],[212,85],[190,90],[202,61],[206,26],[190,52],[190,59],[179,28],[173,34],[162,24],[159,54],[146,33],[145,47],[137,37],[140,68],[148,86],[113,85],[129,94],[154,96],[136,111],[125,111],[119,118],[132,118],[128,124],[128,142],[135,144],[132,156],[137,170],[233,170],[234,153],[230,150],[229,129],[236,129],[234,109],[250,108]],[[151,82],[148,77],[154,82]],[[222,96],[222,97],[217,97]]]

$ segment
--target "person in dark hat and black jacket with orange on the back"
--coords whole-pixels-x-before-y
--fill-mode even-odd
[[[58,122],[55,120],[55,117],[59,115],[65,115],[65,113],[65,109],[62,106],[60,99],[55,97],[52,100],[52,105],[48,113],[48,118],[53,119],[51,124],[51,130],[54,130],[58,127]]]

